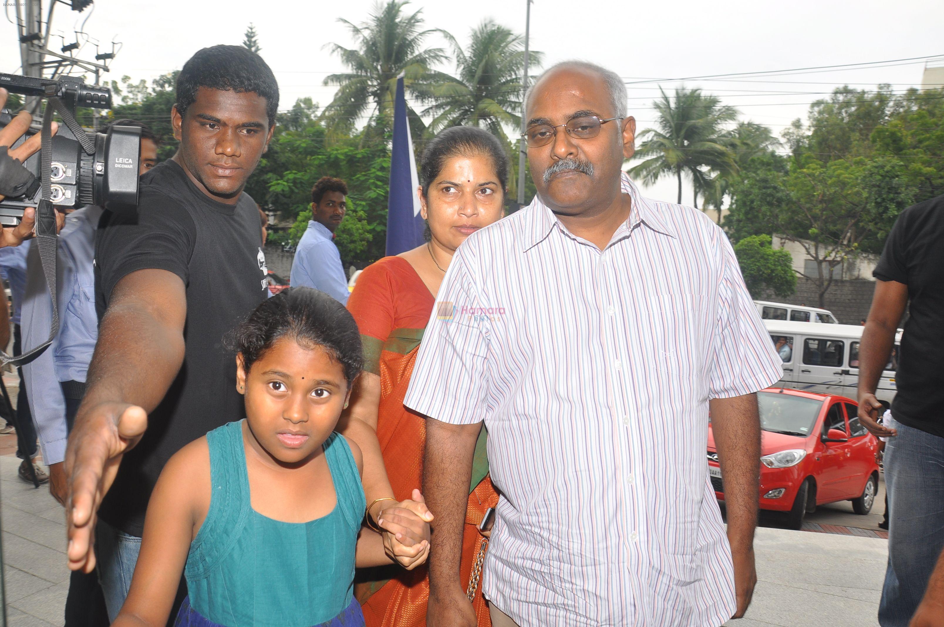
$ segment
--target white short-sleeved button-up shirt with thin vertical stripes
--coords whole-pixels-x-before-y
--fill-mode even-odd
[[[404,403],[485,422],[485,597],[525,625],[720,625],[736,609],[708,399],[781,360],[703,213],[639,194],[602,251],[538,198],[452,258]],[[451,313],[451,316],[449,315]]]

